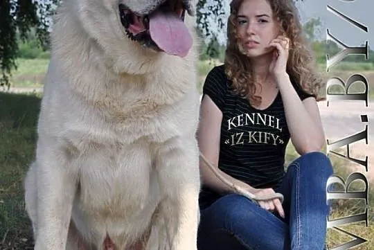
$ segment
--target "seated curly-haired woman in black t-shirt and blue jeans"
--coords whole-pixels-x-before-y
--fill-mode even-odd
[[[201,161],[199,250],[323,249],[332,166],[304,41],[292,0],[231,2],[225,62],[204,83],[199,147],[233,184],[284,201],[235,194]],[[285,171],[290,140],[301,157]]]

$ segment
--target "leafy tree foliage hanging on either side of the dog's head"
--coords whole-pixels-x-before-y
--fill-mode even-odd
[[[0,1],[1,86],[10,86],[9,76],[13,69],[17,69],[15,61],[18,51],[17,33],[21,39],[26,39],[30,29],[36,28],[40,44],[46,44],[48,42],[48,17],[53,14],[53,6],[59,2],[60,0]],[[229,2],[230,0],[199,0],[197,2],[197,28],[206,37],[206,44],[225,44]]]

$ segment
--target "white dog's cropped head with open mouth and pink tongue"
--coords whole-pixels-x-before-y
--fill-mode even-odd
[[[118,73],[146,73],[160,57],[184,58],[193,47],[195,0],[68,2],[66,18],[73,17],[69,11],[75,12],[84,30],[81,35],[98,44],[100,54],[108,57],[103,60],[109,59]]]

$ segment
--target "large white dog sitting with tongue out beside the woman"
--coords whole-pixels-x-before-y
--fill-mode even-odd
[[[35,249],[197,249],[194,6],[63,1],[25,181]]]

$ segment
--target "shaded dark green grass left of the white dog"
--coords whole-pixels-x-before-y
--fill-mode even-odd
[[[34,159],[40,97],[0,93],[0,249],[26,249],[23,180]],[[26,241],[27,240],[27,241]]]

